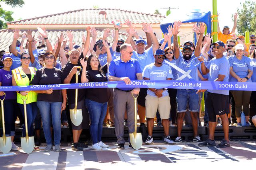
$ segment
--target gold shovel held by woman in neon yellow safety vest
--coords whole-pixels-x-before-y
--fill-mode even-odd
[[[22,96],[21,96],[22,98]],[[21,147],[24,150],[25,153],[30,154],[35,147],[35,141],[34,137],[28,136],[28,121],[27,121],[27,106],[26,106],[26,100],[28,99],[28,95],[26,95],[26,98],[23,99],[23,106],[24,106],[24,120],[25,120],[25,130],[26,130],[26,137],[20,138]]]

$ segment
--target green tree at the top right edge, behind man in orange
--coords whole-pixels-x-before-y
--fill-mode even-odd
[[[250,34],[256,33],[256,3],[246,0],[243,4],[240,2],[240,8],[237,8],[238,20],[237,31],[244,35],[245,31]]]

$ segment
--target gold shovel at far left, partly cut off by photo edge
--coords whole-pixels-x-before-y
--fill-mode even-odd
[[[5,99],[5,94],[4,94]],[[4,127],[4,99],[1,100],[1,107],[2,107],[2,125],[3,125],[3,137],[0,137],[0,150],[6,154],[10,152],[12,149],[12,139],[10,136],[5,136],[5,127]]]

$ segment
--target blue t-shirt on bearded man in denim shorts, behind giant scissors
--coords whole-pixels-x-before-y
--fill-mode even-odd
[[[191,70],[190,72],[190,76],[192,79],[197,80],[198,81],[198,72],[197,72],[197,68],[200,66],[200,61],[198,59],[195,59],[195,56],[192,55],[190,60],[185,60],[183,58],[183,55],[180,55],[180,57],[178,59],[176,59],[174,57],[176,64],[179,68],[181,68],[182,70],[184,70],[185,72],[187,72],[188,70]],[[198,64],[196,67],[194,67],[194,65]],[[194,68],[192,68],[194,67]],[[192,69],[191,69],[192,68]],[[183,76],[183,73],[178,72],[178,78],[180,78],[181,76]],[[186,76],[185,78],[183,78],[182,80],[184,81],[189,81],[190,78],[188,76]]]

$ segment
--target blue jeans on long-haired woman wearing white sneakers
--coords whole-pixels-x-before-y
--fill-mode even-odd
[[[93,100],[86,99],[86,105],[91,120],[90,133],[93,144],[95,144],[101,141],[103,121],[107,113],[108,103],[98,103]]]

